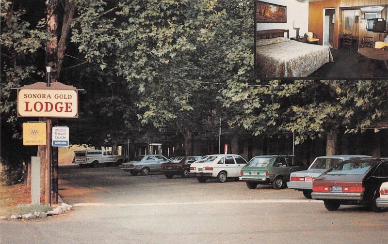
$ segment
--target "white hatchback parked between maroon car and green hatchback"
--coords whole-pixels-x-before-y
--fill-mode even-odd
[[[207,155],[190,165],[190,175],[195,176],[200,183],[215,178],[223,183],[226,178],[238,180],[245,164],[245,159],[237,154]]]

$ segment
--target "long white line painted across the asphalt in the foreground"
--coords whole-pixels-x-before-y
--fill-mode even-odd
[[[200,202],[155,202],[155,203],[75,203],[73,206],[162,206],[162,205],[199,205],[199,204],[223,204],[223,203],[322,203],[322,200],[312,199],[258,199],[258,200],[219,200],[219,201],[200,201]]]

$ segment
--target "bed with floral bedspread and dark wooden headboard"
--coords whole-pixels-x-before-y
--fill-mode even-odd
[[[290,40],[289,30],[256,33],[257,77],[306,77],[333,61],[329,47]]]

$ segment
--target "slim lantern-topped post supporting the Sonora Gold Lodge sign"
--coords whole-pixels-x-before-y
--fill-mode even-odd
[[[47,87],[50,86],[51,81],[51,66],[46,66],[47,73]],[[46,118],[46,164],[45,164],[45,203],[47,206],[51,205],[51,119]]]

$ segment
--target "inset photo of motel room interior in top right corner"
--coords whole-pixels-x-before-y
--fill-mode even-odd
[[[384,79],[388,77],[387,24],[384,22],[384,27],[376,29],[377,31],[367,30],[371,29],[371,24],[376,23],[376,26],[381,24],[381,22],[373,22],[373,19],[387,21],[388,0],[263,0],[257,1],[256,4],[257,77]],[[269,21],[262,13],[260,13],[262,15],[260,19],[259,4],[284,8],[285,11],[283,10],[282,13],[286,15],[285,20]],[[280,33],[273,31],[280,31]],[[279,44],[263,40],[274,40],[275,37],[285,40],[287,38],[287,45],[284,46],[291,49],[290,52],[293,54],[290,55],[299,54],[296,60],[284,61],[283,57],[287,55],[284,54],[283,47],[275,47]],[[304,43],[303,45],[308,45],[306,46],[308,48],[311,45],[324,47],[328,53],[327,51],[323,53],[321,50],[321,53],[313,55],[304,54],[303,50],[308,48],[294,46],[296,42]],[[271,46],[274,48],[271,49]],[[282,52],[279,54],[282,61],[274,61],[275,58],[271,55],[275,50]],[[260,56],[262,54],[268,56]],[[321,56],[327,57],[324,61],[317,61],[317,57]],[[309,57],[311,60],[308,59]],[[265,60],[270,62],[264,64]],[[308,65],[314,62],[317,62],[316,67],[309,68]],[[272,70],[271,66],[281,67],[282,70]],[[295,71],[297,69],[308,71],[298,73]]]

